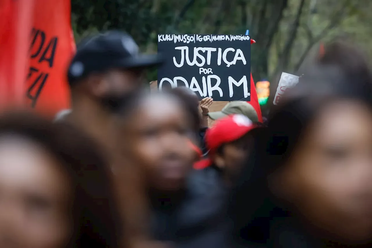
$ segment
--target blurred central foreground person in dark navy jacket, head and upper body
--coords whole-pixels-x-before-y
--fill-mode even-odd
[[[173,94],[139,96],[121,117],[122,168],[138,168],[142,175],[152,238],[170,247],[224,247],[225,191],[217,174],[192,170],[194,124]]]

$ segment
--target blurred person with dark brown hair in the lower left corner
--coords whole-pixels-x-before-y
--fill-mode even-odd
[[[0,117],[0,247],[119,247],[109,173],[94,142],[70,125]]]

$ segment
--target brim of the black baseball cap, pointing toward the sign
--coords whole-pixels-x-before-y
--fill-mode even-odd
[[[139,54],[135,57],[122,60],[119,66],[125,69],[130,69],[138,67],[153,67],[162,63],[163,59],[159,54]]]

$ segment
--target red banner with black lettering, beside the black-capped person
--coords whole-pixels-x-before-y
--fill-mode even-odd
[[[67,66],[76,47],[70,0],[35,0],[26,104],[54,116],[70,107]]]

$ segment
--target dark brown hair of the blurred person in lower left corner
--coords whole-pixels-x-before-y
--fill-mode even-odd
[[[122,235],[109,166],[93,140],[65,123],[29,113],[0,117],[0,136],[13,134],[43,147],[63,166],[73,192],[73,235],[68,247],[119,247]]]

